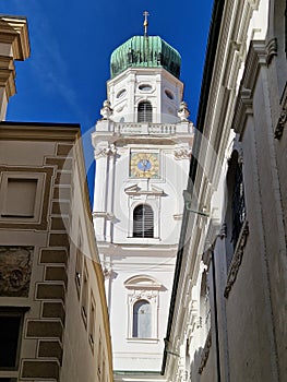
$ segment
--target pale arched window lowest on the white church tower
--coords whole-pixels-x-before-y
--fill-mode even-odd
[[[152,334],[152,309],[146,300],[136,301],[133,306],[132,336],[136,338],[151,338]]]

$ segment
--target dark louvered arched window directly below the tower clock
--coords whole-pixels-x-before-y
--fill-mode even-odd
[[[154,237],[154,212],[148,204],[140,204],[133,211],[133,237]]]

